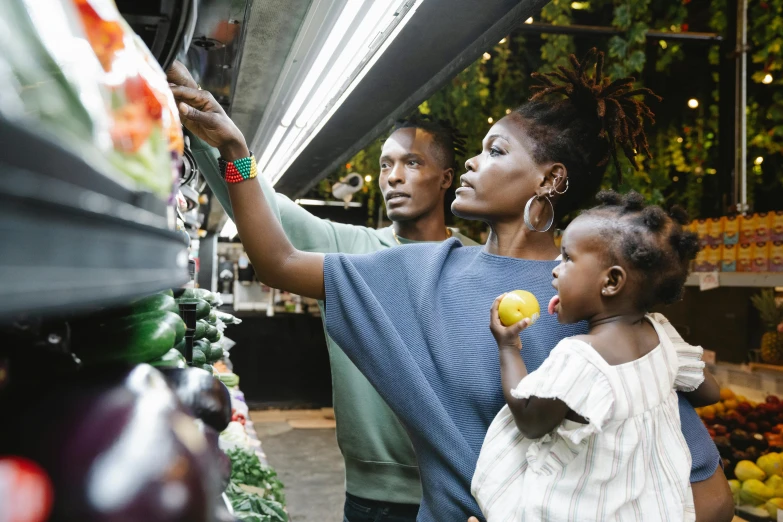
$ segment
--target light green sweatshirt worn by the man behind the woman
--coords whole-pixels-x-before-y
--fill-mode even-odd
[[[218,171],[217,151],[192,135],[190,146],[201,174],[233,218],[228,190]],[[317,218],[286,196],[277,194],[263,176],[258,179],[269,206],[298,250],[366,254],[397,246],[391,227],[376,230]],[[476,244],[456,230],[452,232],[463,244]],[[400,238],[400,243],[413,241]],[[325,317],[323,302],[319,306]],[[326,345],[332,366],[337,443],[345,459],[346,491],[371,500],[419,504],[419,470],[405,429],[328,334]]]

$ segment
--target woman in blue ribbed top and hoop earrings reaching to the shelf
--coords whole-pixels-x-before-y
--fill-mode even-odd
[[[293,249],[258,183],[243,181],[253,176],[254,163],[241,136],[225,131],[219,105],[201,91],[173,89],[186,102],[180,105],[185,121],[226,160],[235,221],[260,279],[326,300],[329,334],[410,433],[424,490],[419,520],[478,514],[471,477],[487,427],[504,404],[486,321],[494,298],[524,288],[549,302],[559,254],[555,211],[564,215],[589,200],[608,160],[617,162],[618,148],[629,157],[647,151],[642,116],[652,113],[633,98],[646,91],[634,91],[630,79],[603,81],[602,62],[598,55],[592,77],[573,58],[573,69],[540,77],[536,99],[497,122],[482,153],[466,163],[452,210],[490,225],[484,247],[449,240],[362,256]],[[554,93],[566,98],[545,99]],[[542,317],[522,334],[526,366],[533,371],[558,341],[584,331]],[[731,494],[717,451],[683,399],[680,414],[699,518],[730,520]]]

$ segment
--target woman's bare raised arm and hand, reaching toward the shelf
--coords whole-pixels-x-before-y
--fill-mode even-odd
[[[183,124],[226,161],[250,156],[247,143],[208,91],[172,86]],[[324,299],[323,254],[296,250],[269,208],[257,180],[229,183],[234,222],[258,278],[266,285]]]

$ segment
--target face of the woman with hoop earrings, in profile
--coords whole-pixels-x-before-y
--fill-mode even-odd
[[[538,165],[530,150],[521,116],[511,113],[495,123],[482,142],[481,154],[465,162],[467,172],[460,177],[451,211],[489,223],[520,219],[546,175],[546,165]]]

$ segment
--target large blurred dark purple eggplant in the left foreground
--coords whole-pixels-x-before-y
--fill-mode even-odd
[[[22,399],[7,449],[49,475],[48,520],[211,521],[220,491],[207,441],[151,366],[81,372]]]

